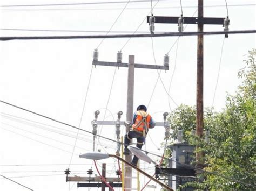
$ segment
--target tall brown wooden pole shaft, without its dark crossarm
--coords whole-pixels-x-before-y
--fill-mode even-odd
[[[204,1],[198,0],[198,19],[204,18]],[[198,22],[198,32],[204,31],[204,24]],[[203,137],[204,133],[204,36],[197,37],[197,118],[196,133],[198,137]],[[204,153],[196,152],[196,167],[203,168]],[[200,171],[197,171],[200,174]]]

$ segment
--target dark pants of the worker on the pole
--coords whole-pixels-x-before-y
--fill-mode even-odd
[[[142,148],[143,140],[144,140],[142,133],[139,133],[136,131],[129,131],[128,133],[126,133],[125,138],[124,138],[125,149],[127,149],[127,146],[130,144],[130,140],[132,140],[132,138],[137,138],[136,146],[138,148]],[[134,155],[134,157],[132,159],[132,164],[137,165],[138,160],[139,160],[138,157],[136,157],[136,155]]]

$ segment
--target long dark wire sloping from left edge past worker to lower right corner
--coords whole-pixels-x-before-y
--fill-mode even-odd
[[[62,124],[64,124],[64,125],[70,126],[71,128],[79,129],[79,128],[77,128],[76,126],[73,126],[73,125],[70,125],[70,124],[67,124],[67,123],[63,123],[63,122],[57,121],[56,119],[53,119],[53,118],[50,118],[50,117],[47,117],[47,116],[44,116],[44,115],[41,115],[41,114],[37,114],[36,112],[33,112],[33,111],[30,111],[30,110],[27,110],[27,109],[18,107],[17,105],[13,105],[13,104],[11,104],[11,103],[4,102],[4,101],[2,101],[2,100],[0,100],[0,102],[2,102],[2,103],[4,103],[4,104],[11,105],[12,107],[15,107],[15,108],[18,108],[18,109],[21,109],[21,110],[24,110],[24,111],[31,112],[32,114],[35,114],[35,115],[38,115],[38,116],[41,116],[41,117],[50,119],[51,121],[55,121],[55,122],[57,122],[57,123],[62,123]],[[85,132],[90,133],[91,135],[93,135],[93,133],[90,132],[90,131],[86,131],[86,130],[83,130],[83,129],[79,129],[79,130],[85,131]],[[9,131],[9,130],[7,130],[7,131]],[[104,137],[104,136],[99,136],[99,137],[104,138],[104,139],[107,139],[107,140],[110,140],[110,141],[112,141],[112,142],[118,143],[116,140],[113,140],[113,139],[110,139],[110,138],[107,138],[107,137]],[[121,143],[121,144],[124,144],[124,143]],[[124,145],[125,145],[125,144],[124,144]],[[129,146],[130,146],[130,147],[133,147],[133,146],[131,146],[131,145],[129,145]],[[133,148],[138,149],[137,147],[133,147]],[[141,150],[141,151],[144,151],[144,150],[142,150],[142,149],[140,149],[140,150]],[[168,158],[165,158],[165,157],[163,157],[163,156],[154,154],[154,153],[152,153],[152,152],[148,152],[148,151],[144,151],[144,152],[149,153],[149,154],[152,154],[152,155],[154,155],[154,156],[156,156],[156,157],[160,157],[160,158],[163,158],[163,159],[168,159]],[[174,161],[174,162],[176,162],[176,163],[178,163],[178,164],[180,164],[180,165],[182,165],[182,166],[184,166],[184,167],[190,167],[190,168],[192,167],[193,169],[198,169],[198,170],[203,171],[203,172],[208,173],[208,174],[213,174],[213,175],[216,175],[216,176],[220,176],[220,177],[222,177],[222,178],[225,178],[225,179],[228,179],[228,180],[232,180],[232,181],[236,181],[236,182],[242,183],[242,184],[247,185],[247,186],[256,187],[255,185],[248,185],[248,183],[245,183],[245,182],[242,182],[242,181],[239,181],[239,180],[235,180],[235,179],[232,179],[232,178],[228,178],[228,177],[226,177],[226,176],[224,176],[224,175],[221,175],[221,174],[218,174],[218,173],[215,173],[215,172],[210,172],[210,171],[206,171],[206,170],[204,170],[204,169],[202,169],[202,168],[194,167],[194,166],[192,166],[192,165],[183,164],[183,163],[178,162],[178,161],[173,160],[173,159],[169,159],[169,160],[172,160],[172,161]]]

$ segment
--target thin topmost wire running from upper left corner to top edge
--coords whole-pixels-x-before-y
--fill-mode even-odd
[[[148,2],[149,0],[131,1],[131,3]],[[157,1],[157,0],[153,0]],[[1,5],[1,8],[14,8],[14,7],[26,7],[26,6],[70,6],[70,5],[95,5],[95,4],[116,4],[127,3],[127,1],[112,1],[112,2],[93,2],[93,3],[60,3],[60,4],[31,4],[31,5]]]

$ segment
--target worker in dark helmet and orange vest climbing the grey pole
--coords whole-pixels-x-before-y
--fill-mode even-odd
[[[137,138],[136,146],[142,148],[145,143],[145,138],[149,129],[154,128],[156,122],[152,117],[147,113],[147,108],[145,105],[139,105],[137,111],[133,114],[131,130],[126,133],[124,143],[124,154],[130,155],[130,151],[127,146],[130,144],[132,138]],[[137,166],[138,157],[134,155],[132,159],[132,165]]]

